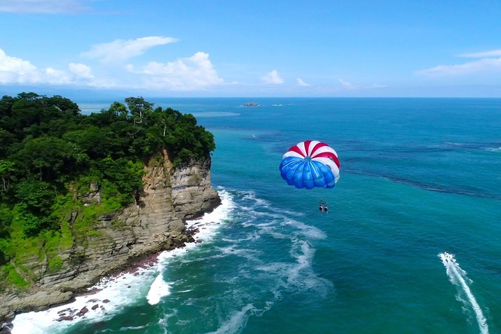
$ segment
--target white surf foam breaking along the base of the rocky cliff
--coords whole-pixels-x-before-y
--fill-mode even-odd
[[[186,222],[188,228],[198,229],[198,232],[193,234],[196,241],[211,240],[221,223],[224,223],[232,212],[234,202],[230,194],[225,190],[218,191],[218,193],[221,196],[219,207],[201,218]],[[191,242],[187,243],[184,248],[164,251],[158,256],[158,263],[152,267],[138,269],[134,273],[126,271],[115,277],[104,277],[99,283],[89,288],[89,291],[99,291],[87,296],[77,296],[72,303],[40,312],[21,313],[12,321],[14,325],[12,333],[63,333],[68,327],[74,326],[79,321],[92,323],[108,319],[120,312],[122,308],[141,299],[147,299],[148,303],[152,305],[159,303],[161,297],[170,293],[169,283],[165,282],[161,276],[165,265],[170,258],[183,255],[198,245],[200,243]],[[98,307],[93,310],[92,307],[96,304]],[[81,316],[77,315],[83,308],[87,308],[88,312]],[[63,315],[72,316],[73,320],[58,321]]]

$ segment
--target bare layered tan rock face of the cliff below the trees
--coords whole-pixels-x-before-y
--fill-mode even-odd
[[[15,312],[43,310],[84,292],[106,274],[130,267],[152,253],[183,246],[194,241],[186,232],[186,219],[202,216],[221,203],[211,188],[210,158],[173,168],[166,151],[161,159],[145,166],[145,187],[136,203],[120,212],[100,216],[92,235],[74,237],[70,250],[60,254],[60,271],[47,271],[37,263],[40,279],[29,292],[0,294],[0,320]],[[98,187],[91,185],[88,202],[101,200]],[[86,200],[84,200],[86,202]],[[70,225],[77,218],[73,212]]]

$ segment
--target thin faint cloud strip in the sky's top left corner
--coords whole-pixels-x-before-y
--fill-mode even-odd
[[[90,8],[80,0],[0,0],[0,13],[79,13]]]

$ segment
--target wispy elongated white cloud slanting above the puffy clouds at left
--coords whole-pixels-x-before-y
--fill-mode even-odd
[[[177,42],[177,39],[164,36],[148,36],[136,38],[135,40],[114,40],[113,42],[94,45],[90,51],[83,52],[81,56],[97,58],[103,63],[125,61],[144,54],[151,47],[173,42]]]

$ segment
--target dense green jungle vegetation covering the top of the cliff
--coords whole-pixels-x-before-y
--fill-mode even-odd
[[[173,164],[207,157],[214,137],[191,114],[154,108],[143,97],[84,115],[71,100],[20,93],[0,100],[0,290],[36,280],[26,262],[64,264],[58,253],[93,219],[134,202],[143,166],[161,150]],[[79,196],[99,184],[99,205]],[[72,227],[67,217],[79,219]]]

